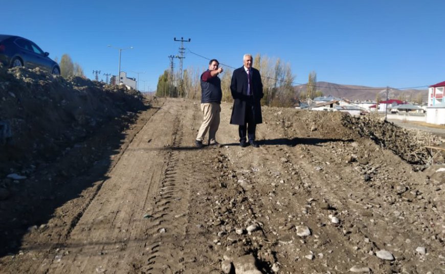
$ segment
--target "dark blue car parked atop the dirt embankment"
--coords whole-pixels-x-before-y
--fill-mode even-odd
[[[59,65],[48,57],[33,41],[19,36],[0,34],[0,62],[7,67],[40,67],[52,74],[60,74]]]

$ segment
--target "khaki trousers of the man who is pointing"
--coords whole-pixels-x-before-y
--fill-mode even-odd
[[[219,112],[221,112],[221,106],[218,103],[203,103],[201,104],[201,110],[204,114],[203,123],[199,128],[197,141],[203,141],[207,131],[209,131],[209,144],[216,142],[215,135],[219,127]]]

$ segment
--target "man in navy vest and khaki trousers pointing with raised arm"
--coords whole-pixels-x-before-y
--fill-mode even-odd
[[[209,69],[201,75],[201,110],[204,114],[203,123],[196,136],[196,147],[203,147],[204,136],[209,131],[209,145],[219,145],[215,140],[216,131],[219,127],[219,112],[221,112],[221,80],[218,74],[222,72],[219,62],[212,59]]]

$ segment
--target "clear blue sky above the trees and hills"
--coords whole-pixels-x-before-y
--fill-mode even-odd
[[[119,51],[108,44],[132,46],[121,71],[145,72],[147,91],[178,54],[174,37],[191,38],[184,69],[208,66],[189,51],[234,67],[260,53],[291,63],[296,83],[312,71],[318,81],[372,87],[445,81],[442,0],[25,0],[5,1],[2,11],[0,34],[33,40],[53,59],[69,54],[90,79],[94,70],[117,74]]]

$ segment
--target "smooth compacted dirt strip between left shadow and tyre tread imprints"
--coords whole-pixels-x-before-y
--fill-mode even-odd
[[[174,109],[169,104],[167,108]],[[161,109],[133,140],[122,154],[119,168],[110,172],[110,179],[73,229],[66,242],[68,248],[63,249],[65,255],[53,260],[54,272],[120,273],[141,268],[149,221],[143,216],[153,207],[166,157],[165,150],[159,148],[168,145],[165,136],[172,130],[171,126],[158,125],[172,125],[174,120],[169,110]]]

